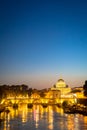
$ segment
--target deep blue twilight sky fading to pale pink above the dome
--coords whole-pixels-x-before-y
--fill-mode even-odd
[[[0,0],[0,84],[87,79],[87,0]]]

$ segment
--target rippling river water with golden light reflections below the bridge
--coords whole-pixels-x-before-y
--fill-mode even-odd
[[[10,113],[2,113],[4,121],[0,130],[87,130],[87,116],[64,114],[58,107],[43,108],[34,105],[28,109],[21,105],[17,110],[10,108]]]

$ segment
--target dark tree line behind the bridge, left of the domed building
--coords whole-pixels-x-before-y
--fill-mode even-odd
[[[3,98],[15,97],[15,96],[27,96],[30,97],[32,94],[37,93],[41,97],[45,96],[47,89],[37,90],[29,88],[27,85],[0,85],[0,101]]]

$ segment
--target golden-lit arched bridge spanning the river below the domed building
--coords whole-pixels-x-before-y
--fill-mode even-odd
[[[47,104],[58,104],[58,103],[63,103],[64,101],[69,101],[69,102],[76,102],[76,98],[28,98],[28,97],[8,97],[7,99],[3,99],[2,104],[42,104],[42,103],[47,103]]]

